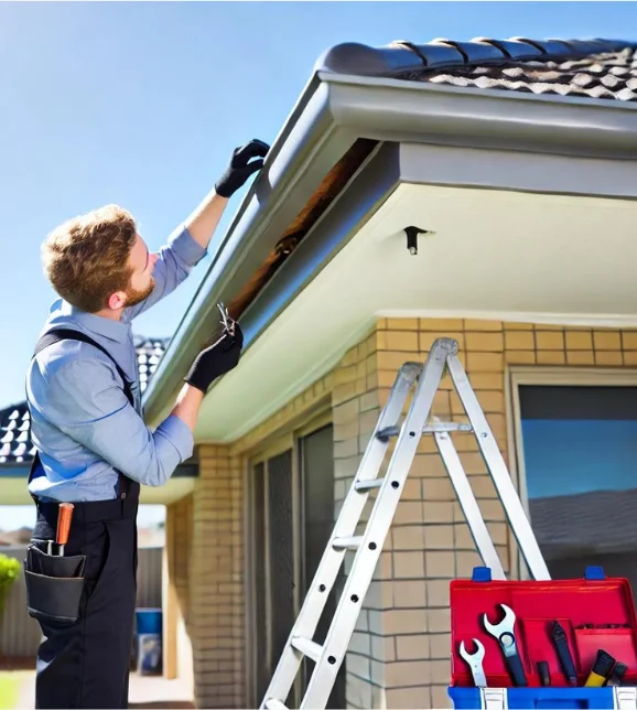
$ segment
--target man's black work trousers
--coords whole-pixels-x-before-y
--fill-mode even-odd
[[[64,555],[86,556],[78,617],[37,617],[36,708],[128,708],[137,510],[137,496],[75,504]],[[57,506],[39,504],[33,539],[55,539],[56,525]]]

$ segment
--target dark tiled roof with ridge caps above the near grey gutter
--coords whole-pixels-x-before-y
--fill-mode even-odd
[[[478,89],[637,101],[637,43],[618,40],[438,39],[385,47],[344,43],[320,71]]]

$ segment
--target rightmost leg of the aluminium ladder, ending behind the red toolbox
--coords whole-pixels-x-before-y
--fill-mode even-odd
[[[550,580],[551,574],[544,561],[531,524],[517,494],[497,441],[488,424],[468,377],[456,356],[450,357],[447,367],[467,417],[474,429],[478,447],[496,485],[500,502],[516,536],[529,571],[536,580]]]

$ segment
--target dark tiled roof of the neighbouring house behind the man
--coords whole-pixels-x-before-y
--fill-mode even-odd
[[[134,347],[143,391],[165,352],[169,338],[137,336]],[[0,410],[0,465],[30,463],[35,454],[31,441],[31,418],[26,402]]]

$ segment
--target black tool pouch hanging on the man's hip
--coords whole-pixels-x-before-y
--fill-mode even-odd
[[[29,615],[56,624],[76,622],[84,589],[85,564],[85,555],[47,555],[35,545],[30,545],[24,560]]]

